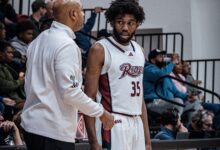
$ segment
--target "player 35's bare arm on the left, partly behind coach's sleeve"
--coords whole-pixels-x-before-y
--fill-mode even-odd
[[[100,44],[95,44],[89,51],[85,76],[85,93],[92,99],[96,98],[103,63],[104,49]],[[85,116],[85,125],[91,149],[101,149],[96,137],[95,118]]]

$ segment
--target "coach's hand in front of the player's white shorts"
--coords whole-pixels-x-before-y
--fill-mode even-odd
[[[104,113],[100,117],[100,120],[105,130],[110,130],[114,125],[114,116],[106,110],[104,110]]]

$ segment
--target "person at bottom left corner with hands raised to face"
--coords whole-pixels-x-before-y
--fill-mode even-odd
[[[19,130],[14,122],[4,121],[0,112],[0,145],[23,145]]]

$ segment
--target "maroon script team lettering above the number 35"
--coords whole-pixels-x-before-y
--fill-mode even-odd
[[[124,63],[119,67],[119,69],[122,71],[122,75],[120,76],[119,79],[124,78],[127,75],[135,78],[143,74],[144,67],[132,66],[129,63]]]

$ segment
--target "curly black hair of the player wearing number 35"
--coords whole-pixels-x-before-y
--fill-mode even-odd
[[[106,10],[105,17],[108,22],[113,21],[118,15],[131,14],[134,15],[137,22],[143,23],[145,13],[137,0],[115,0]]]

